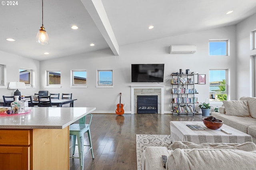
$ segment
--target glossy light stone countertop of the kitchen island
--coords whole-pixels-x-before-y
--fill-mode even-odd
[[[0,129],[63,129],[95,107],[29,107],[26,114],[0,116]]]

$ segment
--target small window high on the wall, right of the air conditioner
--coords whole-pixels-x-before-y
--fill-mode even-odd
[[[209,40],[209,55],[228,55],[228,40]]]

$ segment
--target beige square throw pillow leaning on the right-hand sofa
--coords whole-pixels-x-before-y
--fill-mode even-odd
[[[226,115],[251,117],[246,100],[222,101],[225,107]]]

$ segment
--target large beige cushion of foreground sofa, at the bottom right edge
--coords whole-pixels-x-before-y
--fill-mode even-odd
[[[253,170],[256,152],[235,149],[171,150],[166,170]]]

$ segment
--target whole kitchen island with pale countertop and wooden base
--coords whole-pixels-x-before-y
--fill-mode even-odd
[[[95,107],[29,107],[0,116],[0,170],[69,170],[69,125]]]

